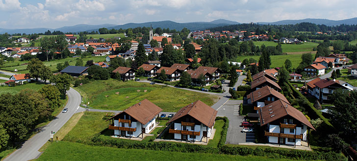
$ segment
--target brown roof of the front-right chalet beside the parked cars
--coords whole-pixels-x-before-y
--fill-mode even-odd
[[[266,125],[283,116],[290,115],[309,128],[315,130],[302,112],[281,100],[274,101],[273,103],[262,107],[258,110],[258,114],[260,118],[260,126]]]

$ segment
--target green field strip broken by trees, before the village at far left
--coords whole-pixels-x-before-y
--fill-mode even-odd
[[[58,63],[64,63],[65,61],[68,61],[70,66],[76,65],[77,59],[82,59],[83,60],[83,65],[88,61],[88,60],[93,60],[94,62],[102,62],[105,61],[106,56],[87,56],[87,57],[76,57],[76,58],[66,58],[66,59],[59,59],[59,60],[53,60],[46,62],[44,61],[43,63],[45,66],[50,67],[52,72],[57,72],[58,70],[56,69]],[[28,70],[26,70],[27,65],[23,65],[28,63],[28,61],[19,61],[19,59],[12,61],[12,62],[6,62],[4,64],[4,67],[1,68],[2,70],[7,70],[7,71],[14,71],[15,69],[18,70],[18,73],[28,73]],[[19,66],[17,66],[19,65]],[[14,67],[9,67],[9,66],[14,66]]]

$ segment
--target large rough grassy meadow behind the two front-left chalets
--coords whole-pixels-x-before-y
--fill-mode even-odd
[[[93,81],[75,89],[79,89],[83,100],[89,102],[90,107],[105,110],[125,110],[146,98],[165,112],[176,112],[197,100],[211,106],[218,99],[216,95],[114,79]]]

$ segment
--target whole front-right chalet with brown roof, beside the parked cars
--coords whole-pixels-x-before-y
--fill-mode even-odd
[[[301,145],[309,141],[310,129],[315,130],[302,112],[281,99],[260,108],[258,115],[270,143]]]

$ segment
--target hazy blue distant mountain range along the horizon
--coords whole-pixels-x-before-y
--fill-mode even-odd
[[[328,26],[332,25],[340,25],[340,24],[357,24],[357,18],[352,18],[352,19],[345,19],[345,20],[327,20],[327,19],[304,19],[304,20],[282,20],[278,22],[273,22],[273,23],[266,23],[266,22],[260,22],[259,24],[275,24],[275,25],[280,25],[280,24],[296,24],[296,23],[315,23],[315,24],[325,24]],[[117,24],[98,24],[98,25],[90,25],[90,24],[77,24],[74,26],[64,26],[60,28],[24,28],[24,29],[6,29],[6,28],[0,28],[0,34],[3,33],[9,33],[9,34],[14,34],[14,33],[26,33],[26,34],[32,34],[32,33],[44,33],[47,30],[50,31],[62,31],[62,32],[80,32],[80,31],[98,31],[99,28],[105,27],[108,29],[127,29],[127,28],[135,28],[135,27],[150,27],[150,25],[153,26],[153,28],[156,27],[161,27],[161,28],[170,28],[170,29],[176,29],[176,30],[181,30],[182,28],[186,27],[189,30],[203,30],[206,28],[212,28],[212,27],[218,27],[218,26],[225,26],[225,25],[230,25],[230,24],[239,24],[238,22],[234,21],[229,21],[229,20],[224,20],[224,19],[218,19],[214,20],[211,22],[192,22],[192,23],[176,23],[173,21],[159,21],[159,22],[147,22],[147,23],[126,23],[122,25],[117,25]]]

